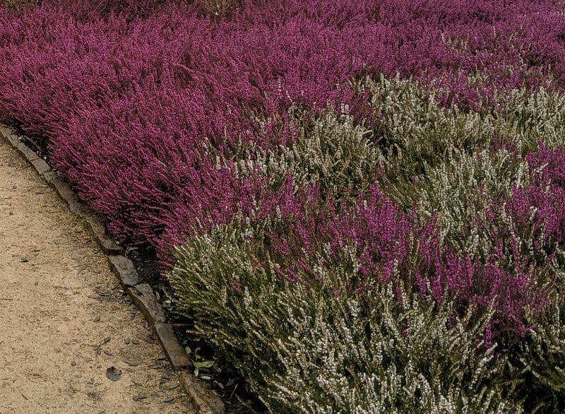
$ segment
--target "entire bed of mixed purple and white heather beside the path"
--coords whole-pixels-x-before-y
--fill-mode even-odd
[[[0,119],[275,412],[559,412],[557,1],[44,1]]]

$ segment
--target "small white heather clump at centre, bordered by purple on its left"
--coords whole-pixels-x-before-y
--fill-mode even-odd
[[[296,189],[318,183],[323,195],[355,196],[369,189],[379,167],[379,151],[368,139],[371,131],[331,107],[315,119],[298,107],[291,107],[288,116],[295,141],[271,149],[250,143],[234,159],[240,175],[258,170],[272,186],[290,175]]]

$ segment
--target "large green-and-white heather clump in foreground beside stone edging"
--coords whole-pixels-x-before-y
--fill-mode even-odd
[[[177,309],[272,412],[520,412],[496,382],[504,361],[476,341],[488,316],[454,321],[451,304],[436,309],[418,295],[400,307],[386,285],[338,295],[356,266],[347,247],[341,260],[319,261],[319,283],[289,282],[268,257],[258,264],[254,232],[232,225],[193,237],[169,280]]]

